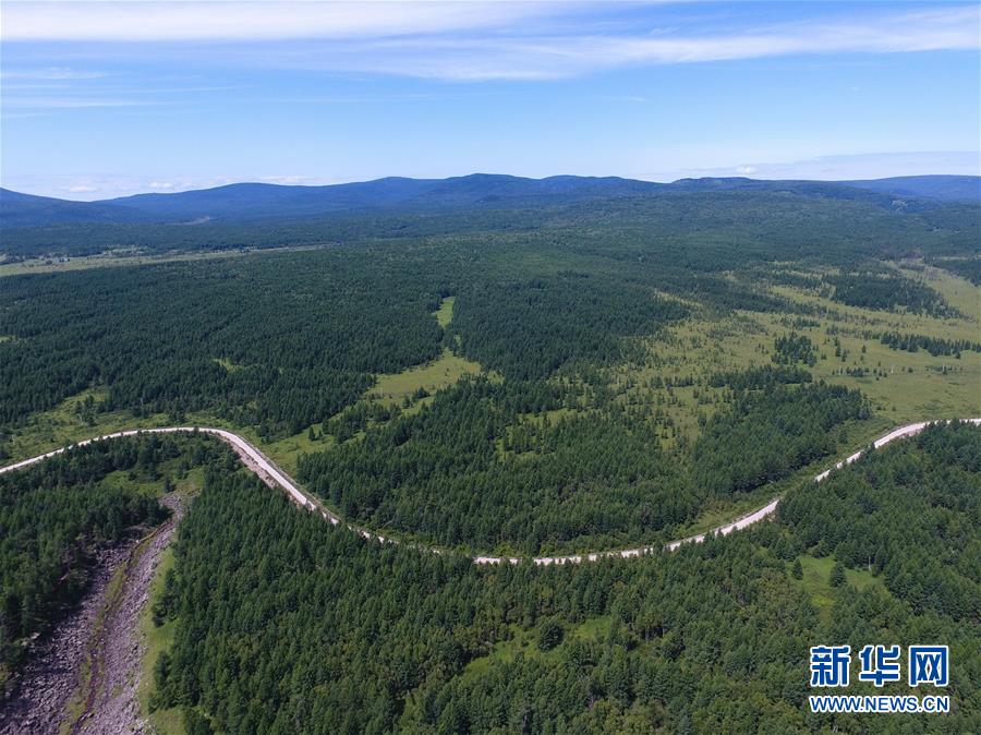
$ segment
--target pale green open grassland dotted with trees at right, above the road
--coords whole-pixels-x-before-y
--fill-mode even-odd
[[[959,358],[934,357],[922,349],[907,352],[880,341],[879,335],[886,332],[981,341],[981,288],[942,272],[931,286],[962,316],[936,318],[857,309],[775,287],[773,292],[815,306],[815,313],[735,312],[719,316],[699,312],[649,340],[644,364],[616,368],[609,383],[626,406],[656,414],[655,421],[664,429],[662,438],[669,447],[693,439],[700,419],[725,406],[728,389],[705,385],[711,375],[772,364],[774,340],[797,333],[816,347],[816,364],[804,365],[814,379],[861,389],[887,425],[981,415],[981,353],[965,350]],[[972,302],[974,309],[968,310]]]

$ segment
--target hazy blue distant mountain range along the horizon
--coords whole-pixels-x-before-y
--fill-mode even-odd
[[[918,176],[838,182],[712,178],[655,183],[617,177],[525,179],[474,173],[450,179],[391,177],[327,186],[239,183],[171,194],[136,194],[99,202],[71,202],[0,189],[0,226],[241,222],[314,218],[358,210],[524,208],[625,196],[718,191],[790,192],[804,196],[862,200],[882,206],[893,206],[897,198],[981,202],[981,177]]]

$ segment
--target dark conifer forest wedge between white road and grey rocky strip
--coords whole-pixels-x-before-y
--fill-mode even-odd
[[[131,485],[156,480],[162,462],[178,459],[177,474],[194,466],[234,467],[214,441],[157,435],[90,444],[0,474],[0,664],[16,665],[23,640],[47,632],[71,610],[100,549],[169,514],[153,494],[106,478],[124,472]]]

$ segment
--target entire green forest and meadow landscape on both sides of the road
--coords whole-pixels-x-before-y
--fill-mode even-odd
[[[791,186],[4,231],[0,463],[222,427],[398,543],[213,436],[71,449],[0,474],[0,679],[193,473],[161,735],[981,731],[981,432],[811,481],[981,417],[977,215]],[[953,712],[810,714],[821,642],[948,643]]]

